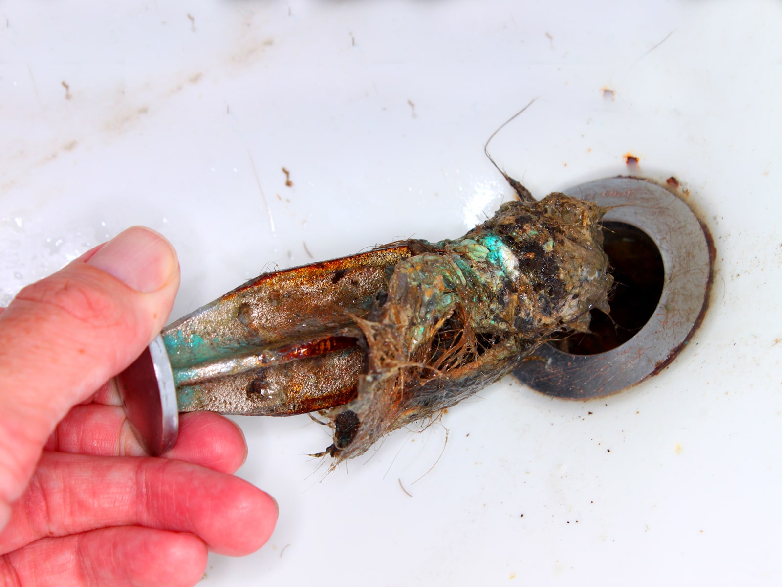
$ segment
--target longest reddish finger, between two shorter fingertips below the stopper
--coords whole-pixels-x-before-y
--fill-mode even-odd
[[[45,536],[112,526],[190,532],[217,553],[254,552],[277,505],[247,481],[170,459],[45,452],[0,532],[7,553]]]

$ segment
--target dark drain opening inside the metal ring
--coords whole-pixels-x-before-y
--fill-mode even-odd
[[[646,232],[625,222],[603,222],[603,248],[611,263],[614,287],[608,296],[611,315],[590,312],[590,333],[558,333],[549,344],[570,355],[597,355],[636,335],[657,308],[665,268],[660,251]]]

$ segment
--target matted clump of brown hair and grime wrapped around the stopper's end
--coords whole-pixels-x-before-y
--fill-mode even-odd
[[[335,431],[326,452],[360,455],[511,372],[557,330],[587,330],[612,285],[603,213],[552,194],[504,203],[461,239],[407,241],[417,254],[357,319],[367,375],[356,399],[325,414]]]

